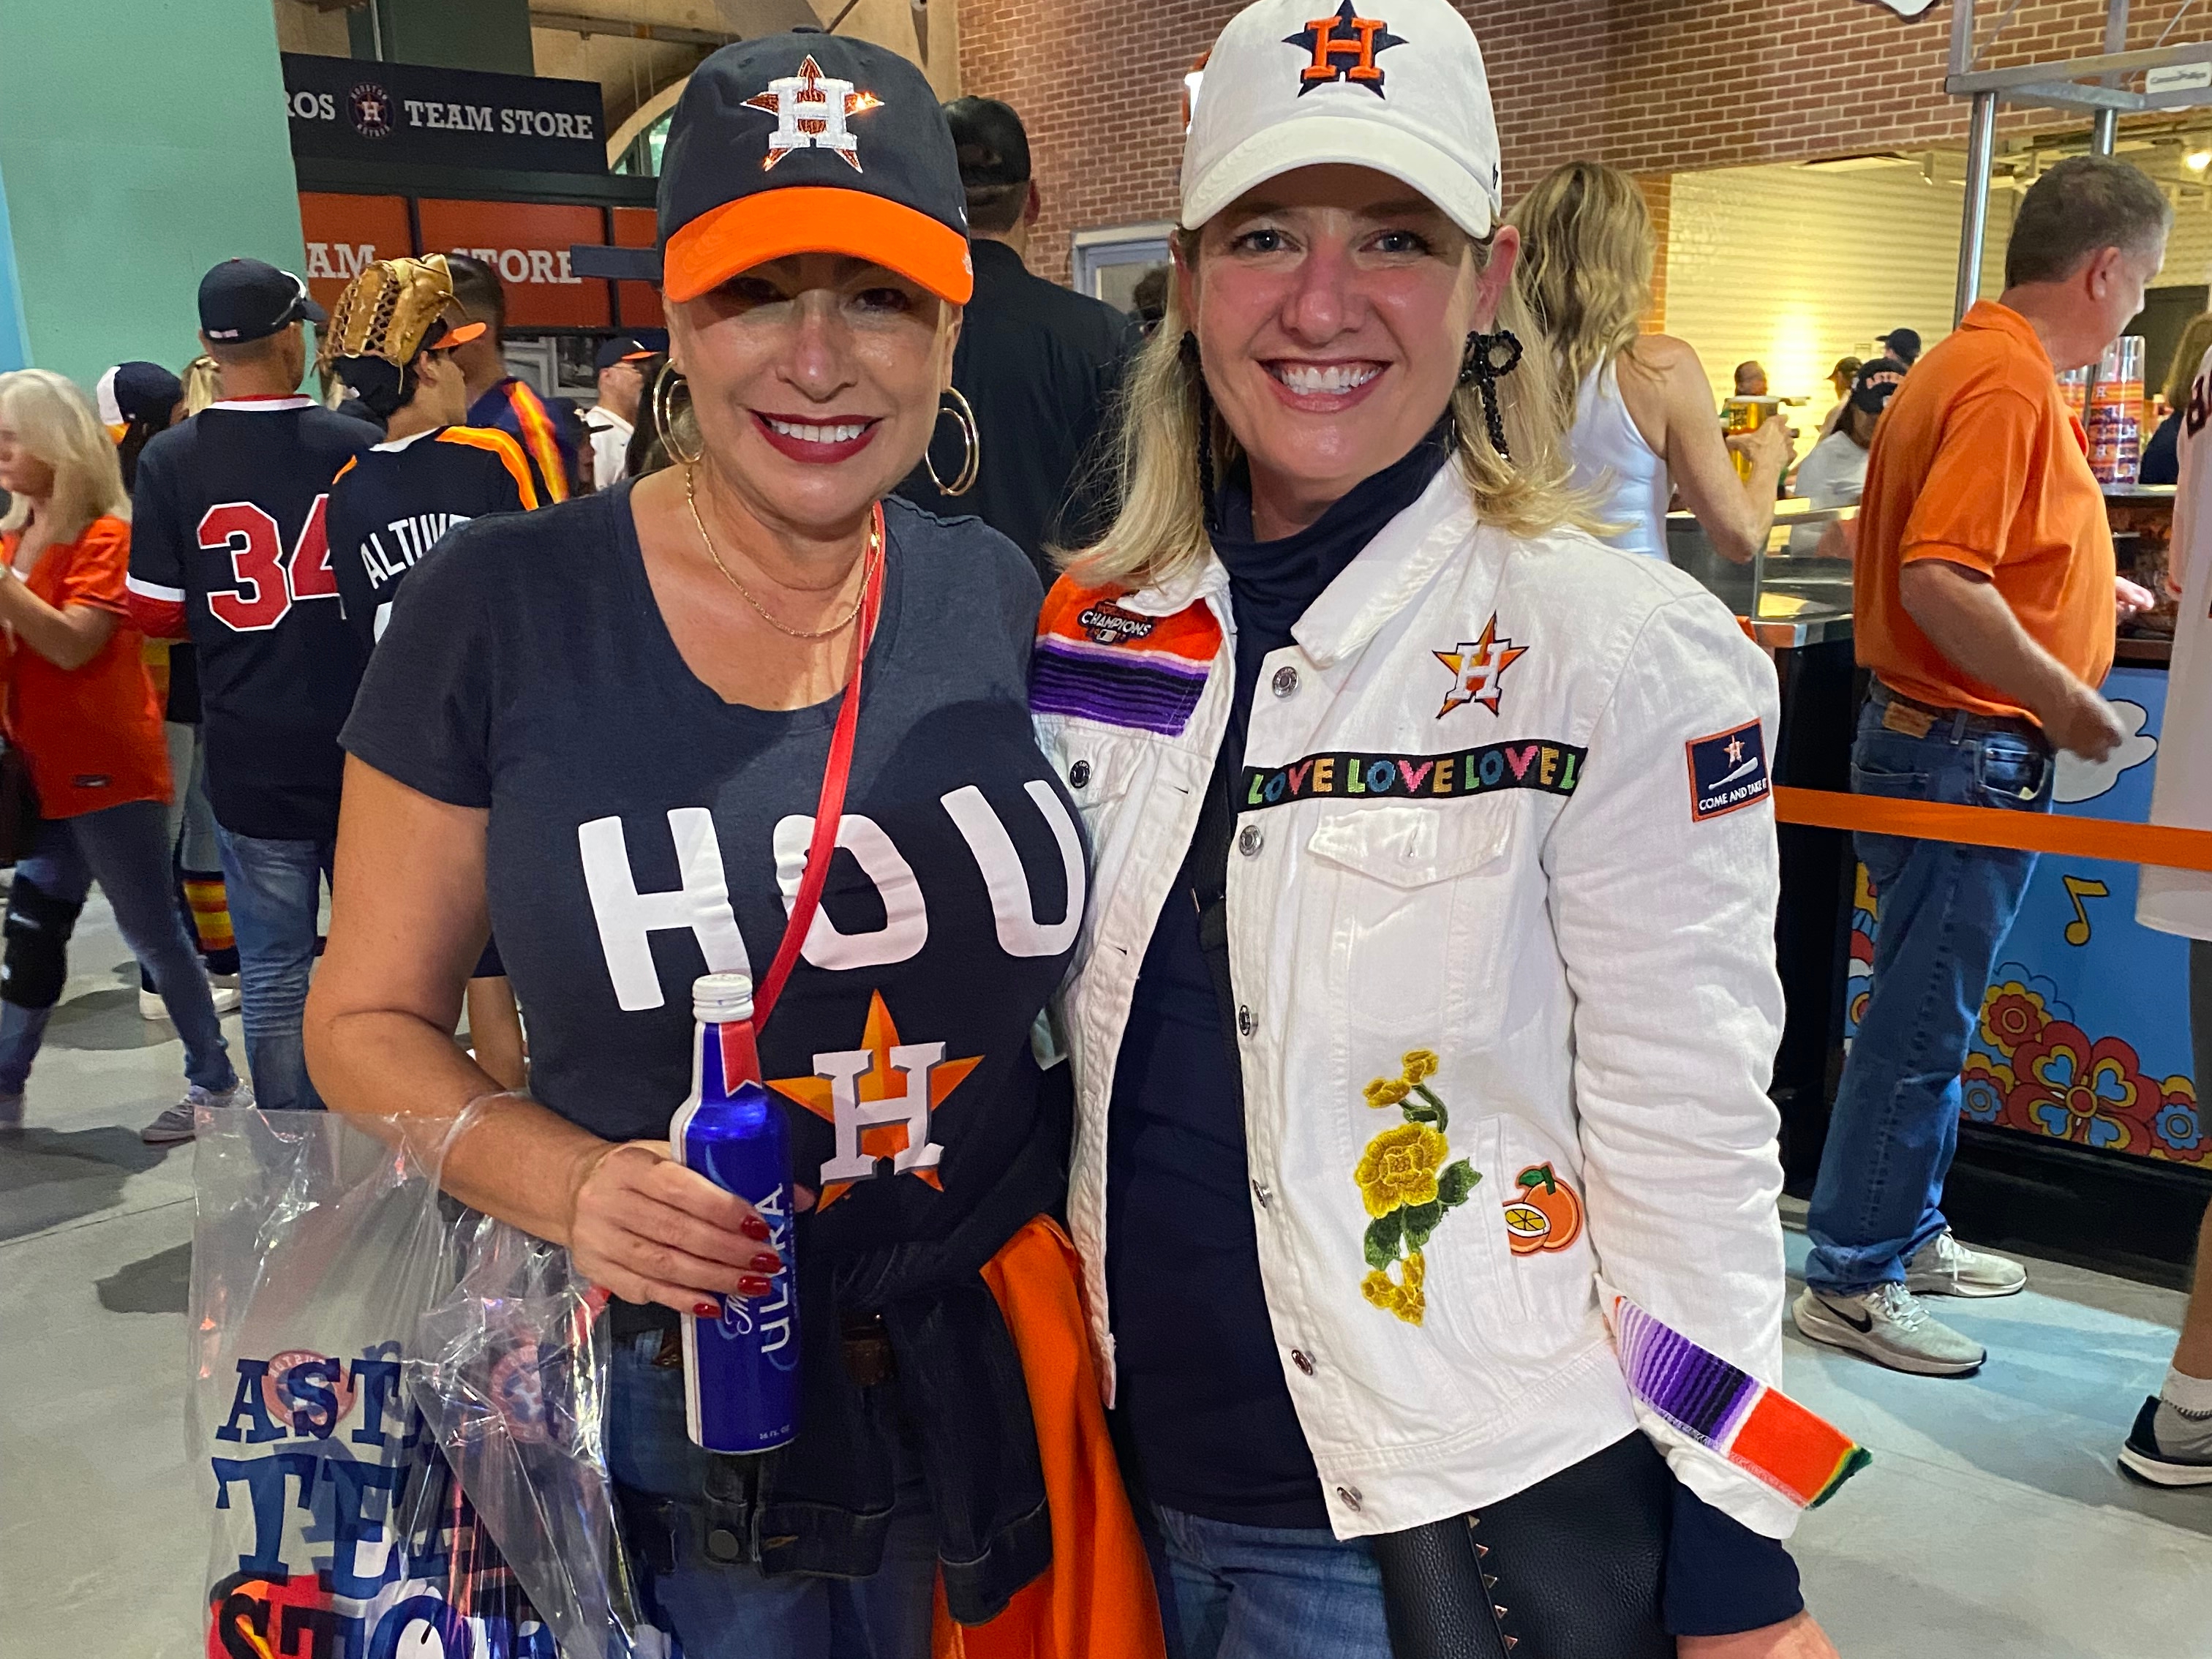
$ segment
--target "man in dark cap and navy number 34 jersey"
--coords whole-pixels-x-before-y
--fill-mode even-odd
[[[299,396],[310,321],[325,316],[307,285],[259,259],[201,279],[199,334],[223,396],[139,453],[128,580],[148,637],[197,646],[246,1060],[276,1110],[321,1106],[299,1018],[338,834],[338,726],[361,679],[325,504],[338,469],[380,436]],[[190,1115],[177,1130],[190,1137]]]

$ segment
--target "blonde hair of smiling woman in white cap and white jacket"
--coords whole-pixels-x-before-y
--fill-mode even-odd
[[[1183,261],[1199,259],[1199,232],[1177,232]],[[1489,263],[1489,243],[1475,243],[1478,268]],[[1181,285],[1168,283],[1168,312],[1152,338],[1139,352],[1121,398],[1117,453],[1106,467],[1119,478],[1121,511],[1093,546],[1055,549],[1055,557],[1088,586],[1150,586],[1201,566],[1212,555],[1206,533],[1206,502],[1199,491],[1199,409],[1203,369],[1183,358]],[[1533,343],[1528,312],[1513,292],[1500,296],[1493,327],[1511,330]],[[1482,414],[1482,389],[1471,383],[1453,387],[1451,425],[1453,458],[1460,480],[1473,500],[1475,515],[1511,535],[1544,535],[1573,524],[1588,529],[1582,498],[1568,491],[1557,398],[1546,354],[1526,349],[1522,363],[1498,380],[1498,411],[1506,431],[1511,458],[1491,447]],[[1442,414],[1442,411],[1440,411]],[[1243,453],[1237,436],[1219,414],[1206,434],[1214,476]]]

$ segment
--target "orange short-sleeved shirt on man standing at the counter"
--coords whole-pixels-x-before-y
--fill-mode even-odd
[[[1858,661],[1938,708],[2028,714],[1905,615],[1898,571],[1984,573],[2035,644],[2088,686],[2112,668],[2112,531],[2086,442],[2028,321],[1980,301],[1889,398],[1867,458],[1851,580]],[[2033,719],[2033,717],[2031,717]]]

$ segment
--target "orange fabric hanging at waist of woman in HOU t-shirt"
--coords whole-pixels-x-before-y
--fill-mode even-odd
[[[1029,1380],[1053,1564],[991,1624],[960,1626],[938,1586],[933,1659],[1166,1659],[1152,1566],[1106,1438],[1075,1245],[1037,1217],[984,1265]]]

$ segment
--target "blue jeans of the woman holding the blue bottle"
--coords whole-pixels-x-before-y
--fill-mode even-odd
[[[883,1566],[872,1577],[763,1577],[757,1566],[712,1562],[697,1506],[708,1458],[684,1429],[684,1369],[655,1365],[659,1347],[659,1332],[615,1347],[606,1467],[630,1498],[675,1506],[675,1566],[653,1568],[650,1579],[686,1659],[929,1659],[938,1533],[920,1460],[909,1451],[900,1467]],[[891,1389],[869,1396],[887,1407]]]

